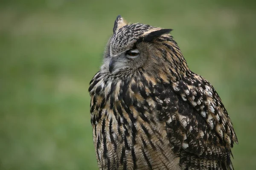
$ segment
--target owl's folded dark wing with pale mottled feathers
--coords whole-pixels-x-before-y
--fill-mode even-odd
[[[181,165],[233,169],[230,148],[233,141],[237,142],[233,126],[218,94],[206,83],[206,88],[201,87],[202,83],[196,87],[182,81],[173,84],[174,88],[157,85],[156,101],[162,106],[159,119],[165,122],[167,136],[173,151],[180,156]]]

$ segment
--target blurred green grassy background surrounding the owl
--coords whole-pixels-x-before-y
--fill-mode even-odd
[[[172,28],[192,71],[215,87],[256,167],[256,1],[0,0],[0,170],[96,170],[90,79],[113,22]]]

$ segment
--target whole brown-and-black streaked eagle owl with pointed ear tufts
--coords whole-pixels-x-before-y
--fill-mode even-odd
[[[170,31],[116,18],[89,87],[99,169],[233,169],[230,117]]]

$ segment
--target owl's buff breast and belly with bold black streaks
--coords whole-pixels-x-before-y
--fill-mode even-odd
[[[150,97],[154,82],[146,87],[138,76],[125,81],[102,76],[96,74],[90,87],[93,142],[100,169],[178,170],[179,158],[172,152],[165,123],[158,119],[158,104]]]

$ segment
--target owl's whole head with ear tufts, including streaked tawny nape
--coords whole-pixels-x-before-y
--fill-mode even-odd
[[[186,61],[170,31],[142,23],[128,24],[117,16],[102,71],[113,75],[136,74],[138,70],[150,74],[185,71]]]

